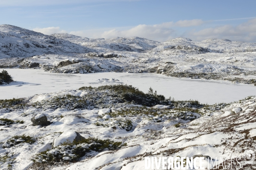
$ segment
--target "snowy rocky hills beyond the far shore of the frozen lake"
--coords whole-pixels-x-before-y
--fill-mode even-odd
[[[10,25],[1,25],[0,35],[0,68],[73,74],[151,72],[179,78],[256,83],[256,43],[226,39],[197,42],[188,38],[159,43],[139,37],[48,36]]]

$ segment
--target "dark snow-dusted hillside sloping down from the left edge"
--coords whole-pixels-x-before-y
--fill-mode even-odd
[[[0,25],[0,58],[93,51],[93,49],[54,36],[44,35],[18,26]]]

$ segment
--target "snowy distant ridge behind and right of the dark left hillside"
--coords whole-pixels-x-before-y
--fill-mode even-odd
[[[61,38],[63,40],[68,40],[72,43],[79,44],[81,46],[87,46],[95,48],[99,51],[104,50],[115,50],[115,51],[144,51],[148,49],[155,48],[158,44],[157,41],[147,40],[146,38],[140,37],[115,37],[115,38],[98,38],[89,39],[85,37],[79,37],[69,34],[53,34],[52,36],[56,38]]]

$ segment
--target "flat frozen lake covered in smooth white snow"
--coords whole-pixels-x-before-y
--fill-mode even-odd
[[[0,86],[0,99],[23,98],[35,94],[55,92],[63,89],[78,89],[82,86],[124,83],[147,92],[150,86],[158,94],[175,100],[198,100],[215,104],[232,102],[256,95],[256,86],[232,84],[227,81],[203,81],[198,79],[171,78],[153,73],[91,73],[57,74],[39,69],[5,69],[15,83]],[[119,81],[97,81],[115,78]]]

